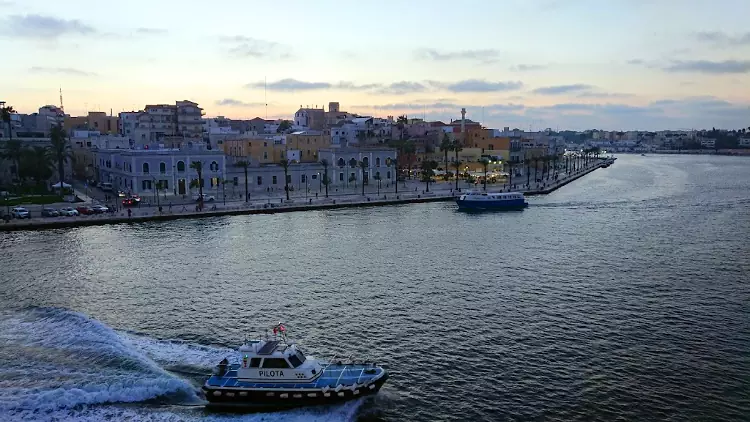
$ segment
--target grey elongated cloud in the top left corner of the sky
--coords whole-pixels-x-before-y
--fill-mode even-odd
[[[63,35],[95,35],[94,27],[78,19],[60,19],[44,15],[11,15],[0,28],[12,37],[56,40]]]

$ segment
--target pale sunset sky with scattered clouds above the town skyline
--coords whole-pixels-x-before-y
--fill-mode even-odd
[[[22,113],[292,118],[300,106],[487,127],[750,127],[748,0],[0,0]],[[266,106],[267,104],[267,106]]]

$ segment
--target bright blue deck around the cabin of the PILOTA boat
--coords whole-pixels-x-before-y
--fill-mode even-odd
[[[314,382],[294,383],[294,382],[253,382],[241,381],[237,379],[237,369],[239,364],[229,367],[226,375],[220,377],[212,375],[206,385],[216,388],[283,388],[283,389],[305,389],[305,388],[336,388],[339,384],[348,386],[354,383],[362,384],[381,375],[383,369],[374,367],[371,364],[350,364],[350,365],[330,365],[320,377]],[[365,370],[372,369],[374,373],[367,374]]]

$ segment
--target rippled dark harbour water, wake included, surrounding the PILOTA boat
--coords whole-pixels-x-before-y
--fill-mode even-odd
[[[0,419],[750,419],[750,160],[622,156],[530,203],[0,234]],[[201,374],[280,320],[391,379],[205,412]]]

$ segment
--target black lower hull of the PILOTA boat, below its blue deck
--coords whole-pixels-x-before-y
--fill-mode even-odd
[[[388,374],[379,379],[359,386],[341,386],[339,388],[244,388],[244,387],[211,387],[204,385],[203,392],[209,407],[262,407],[289,408],[317,406],[354,400],[372,396],[380,391],[388,380]]]

